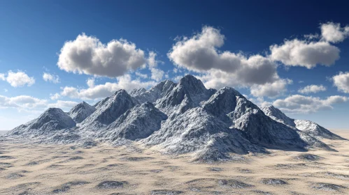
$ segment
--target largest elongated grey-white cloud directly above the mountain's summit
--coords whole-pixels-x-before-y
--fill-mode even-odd
[[[276,65],[260,56],[244,56],[229,51],[220,52],[225,36],[220,30],[204,26],[192,38],[184,37],[173,45],[167,54],[176,65],[195,72],[220,70],[243,84],[264,84],[277,77]]]

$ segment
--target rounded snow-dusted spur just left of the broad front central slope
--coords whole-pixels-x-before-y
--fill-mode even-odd
[[[162,120],[166,119],[167,116],[152,103],[145,102],[126,111],[111,125],[101,130],[97,137],[102,141],[120,145],[129,140],[149,137],[159,130]]]

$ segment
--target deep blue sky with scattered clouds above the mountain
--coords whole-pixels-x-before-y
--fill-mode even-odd
[[[48,107],[68,111],[117,88],[187,73],[293,118],[349,129],[347,8],[345,1],[0,1],[0,130]]]

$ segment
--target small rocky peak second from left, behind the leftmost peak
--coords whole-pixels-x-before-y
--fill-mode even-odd
[[[81,102],[69,111],[69,116],[73,118],[76,123],[81,123],[87,116],[90,116],[96,109],[86,102]]]

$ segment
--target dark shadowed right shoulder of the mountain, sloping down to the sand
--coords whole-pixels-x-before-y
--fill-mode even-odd
[[[260,146],[297,149],[315,144],[326,148],[325,143],[272,120],[234,88],[221,88],[203,107],[222,120],[229,120],[231,127],[241,130],[246,139]]]

